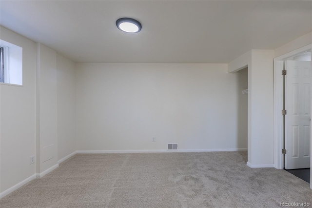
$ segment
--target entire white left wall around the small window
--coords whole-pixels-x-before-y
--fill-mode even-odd
[[[57,167],[58,159],[76,150],[76,94],[74,62],[2,26],[0,38],[23,50],[23,85],[0,83],[3,197],[36,178],[36,172],[43,176]],[[32,155],[36,163],[30,165]]]

